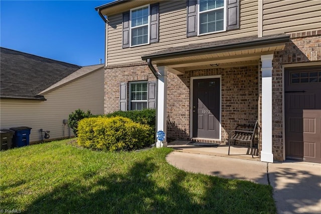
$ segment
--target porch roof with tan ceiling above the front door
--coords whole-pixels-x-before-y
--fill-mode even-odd
[[[247,37],[174,47],[143,56],[156,66],[166,66],[175,74],[185,71],[257,64],[261,55],[283,50],[289,36]],[[218,66],[217,66],[218,65]]]

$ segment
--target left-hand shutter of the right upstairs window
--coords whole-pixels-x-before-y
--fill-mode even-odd
[[[197,36],[197,1],[187,0],[187,37]]]

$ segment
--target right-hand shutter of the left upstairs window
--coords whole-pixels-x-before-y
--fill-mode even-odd
[[[159,4],[150,5],[150,37],[149,42],[158,42],[159,41],[159,13],[158,9]]]

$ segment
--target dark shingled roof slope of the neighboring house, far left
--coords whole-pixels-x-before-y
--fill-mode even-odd
[[[0,47],[0,98],[46,100],[39,93],[81,66]]]

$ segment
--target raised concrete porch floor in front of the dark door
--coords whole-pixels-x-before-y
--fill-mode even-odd
[[[187,145],[190,141],[173,141],[168,143],[168,147],[173,148],[177,152],[187,152],[192,154],[212,155],[219,157],[237,158],[243,160],[260,161],[260,157],[252,155],[249,147],[231,146],[230,155],[228,155],[229,146],[219,145],[218,147],[203,147]],[[255,153],[255,152],[254,152]],[[254,154],[253,153],[253,154]]]

